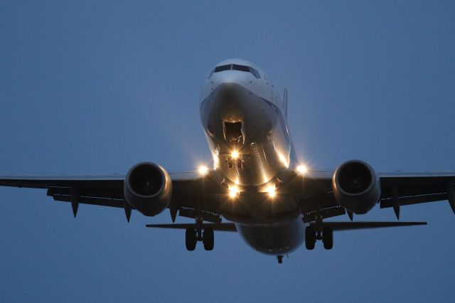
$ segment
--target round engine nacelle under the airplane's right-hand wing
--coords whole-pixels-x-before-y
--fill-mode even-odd
[[[378,203],[381,188],[373,168],[360,160],[346,161],[336,169],[332,179],[336,201],[353,213],[368,213]]]

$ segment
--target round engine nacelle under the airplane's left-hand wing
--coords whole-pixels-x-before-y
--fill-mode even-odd
[[[125,199],[145,216],[156,216],[164,211],[171,194],[171,177],[158,164],[141,162],[128,171],[124,181]]]

